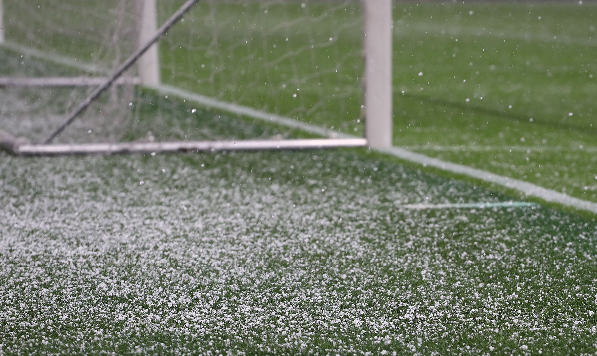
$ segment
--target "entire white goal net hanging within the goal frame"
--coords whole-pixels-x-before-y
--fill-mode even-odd
[[[10,65],[0,75],[110,73],[137,48],[140,4],[4,0],[7,41],[0,54]],[[181,4],[158,2],[158,24]],[[247,106],[333,130],[362,132],[362,20],[357,1],[205,0],[158,43],[165,85],[230,107]],[[137,70],[126,75],[136,76]],[[0,100],[11,103],[0,109],[3,125],[16,135],[39,140],[93,88],[3,86]],[[234,115],[208,113],[196,103],[119,85],[90,106],[58,141],[294,135],[289,129],[239,123],[230,116]]]

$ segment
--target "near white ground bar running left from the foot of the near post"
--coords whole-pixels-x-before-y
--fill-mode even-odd
[[[181,141],[161,143],[20,144],[14,153],[26,156],[63,154],[165,153],[186,151],[303,150],[308,148],[364,147],[365,138],[296,140]]]

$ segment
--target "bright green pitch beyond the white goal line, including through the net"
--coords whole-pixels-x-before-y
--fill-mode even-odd
[[[160,20],[180,4],[161,2]],[[127,49],[88,49],[107,48],[105,36],[80,25],[91,12],[93,24],[112,21],[103,14],[117,5],[77,11],[68,0],[53,15],[7,0],[7,13],[49,28],[9,17],[7,38],[112,66]],[[597,202],[595,10],[592,1],[395,2],[394,144]],[[162,78],[361,135],[361,16],[356,1],[200,2],[161,41]],[[52,17],[72,26],[48,27]]]

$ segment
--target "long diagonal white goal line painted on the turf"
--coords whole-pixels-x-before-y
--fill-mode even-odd
[[[6,44],[6,43],[5,43]],[[10,47],[10,46],[8,46]],[[54,55],[44,55],[42,51],[35,50],[35,54],[31,52],[32,55],[36,55],[41,58],[45,58],[46,60],[56,61],[57,56]],[[58,62],[60,63],[60,62]],[[64,63],[63,63],[64,64]],[[85,67],[84,64],[74,62],[72,63],[73,66],[82,68]],[[89,67],[96,68],[97,67]],[[267,114],[263,112],[259,112],[255,109],[251,109],[250,107],[239,106],[236,104],[225,103],[223,101],[216,100],[214,98],[202,97],[201,95],[192,94],[190,92],[184,91],[183,89],[174,88],[173,86],[167,85],[159,85],[154,87],[155,89],[164,91],[164,92],[171,92],[173,95],[181,95],[181,98],[187,98],[188,100],[196,100],[198,104],[204,104],[206,106],[216,107],[217,109],[226,110],[227,112],[244,115],[247,117],[252,117],[253,119],[258,119],[266,122],[277,123],[278,125],[283,125],[291,128],[297,128],[304,130],[306,132],[310,132],[312,134],[317,135],[324,135],[327,137],[337,137],[337,138],[361,138],[356,137],[354,135],[347,135],[341,134],[340,132],[331,131],[329,129],[324,129],[319,126],[311,125],[309,123],[302,123],[297,122],[296,120],[290,119],[288,117],[278,116],[274,114]],[[472,168],[469,166],[460,165],[458,163],[447,162],[438,158],[433,158],[426,156],[425,154],[415,153],[413,151],[409,151],[405,148],[401,147],[391,147],[391,148],[383,148],[378,149],[378,152],[390,154],[391,156],[398,157],[400,159],[408,160],[414,163],[420,163],[424,167],[432,166],[434,168],[442,169],[442,171],[448,171],[456,174],[467,175],[468,177],[480,179],[481,181],[489,182],[492,184],[501,185],[502,187],[506,187],[512,190],[519,191],[525,196],[530,197],[537,197],[549,203],[557,203],[564,206],[569,206],[571,208],[579,209],[579,210],[586,210],[588,212],[597,213],[597,203],[589,202],[587,200],[581,200],[578,198],[574,198],[568,196],[564,193],[559,193],[555,190],[550,190],[547,188],[539,187],[538,185],[519,181],[518,179],[513,179],[510,177],[506,177],[499,174],[494,174],[491,172],[483,171],[481,169]]]

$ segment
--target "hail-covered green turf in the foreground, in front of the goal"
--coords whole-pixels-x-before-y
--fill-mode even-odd
[[[358,151],[0,153],[0,354],[594,354],[597,224]]]

